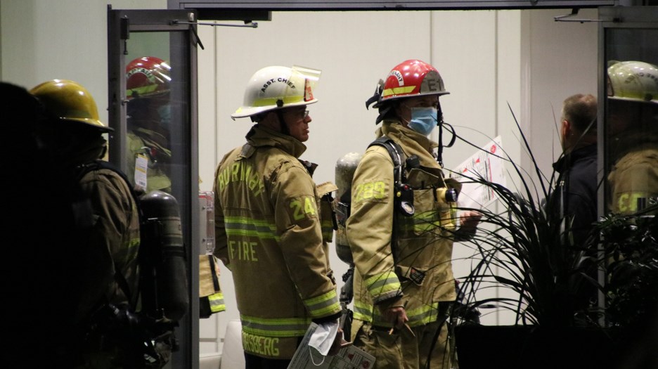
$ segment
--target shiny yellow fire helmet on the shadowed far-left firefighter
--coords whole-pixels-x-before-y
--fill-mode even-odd
[[[46,110],[66,122],[80,122],[103,132],[114,131],[98,119],[98,108],[91,93],[68,79],[52,79],[30,90]]]

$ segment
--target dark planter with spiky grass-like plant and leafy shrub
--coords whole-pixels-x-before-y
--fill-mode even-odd
[[[570,245],[569,222],[551,219],[550,202],[542,201],[550,197],[555,175],[546,179],[535,164],[536,183],[508,157],[503,159],[519,179],[516,190],[469,176],[492,190],[504,210],[475,209],[482,221],[469,241],[472,268],[458,278],[456,315],[471,317],[457,321],[460,368],[612,368],[628,354],[618,347],[631,323],[637,323],[632,317],[642,310],[649,316],[656,308],[654,218],[611,214],[595,225],[586,245]],[[598,269],[610,283],[598,283]],[[606,304],[588,298],[597,294],[607,297]],[[646,300],[642,310],[638,299]],[[492,307],[507,311],[513,323],[481,325],[472,319],[474,311]]]

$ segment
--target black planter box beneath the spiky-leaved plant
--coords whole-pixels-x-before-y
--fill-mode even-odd
[[[455,337],[459,369],[601,369],[614,356],[601,329],[460,325]]]

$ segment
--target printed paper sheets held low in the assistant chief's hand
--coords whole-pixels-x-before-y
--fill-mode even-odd
[[[370,369],[375,365],[374,356],[354,346],[344,347],[335,356],[322,356],[309,346],[309,340],[316,328],[318,325],[311,323],[295,356],[292,356],[288,369]]]

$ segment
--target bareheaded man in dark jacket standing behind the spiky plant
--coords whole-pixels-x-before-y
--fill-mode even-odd
[[[569,271],[565,304],[578,311],[577,321],[590,321],[586,313],[598,299],[593,224],[597,220],[597,101],[577,93],[565,99],[560,118],[562,155],[553,164],[557,172],[555,189],[548,198],[548,216],[560,231],[560,245],[553,250],[556,262]],[[588,275],[591,280],[581,278]],[[560,277],[560,276],[558,276]]]

